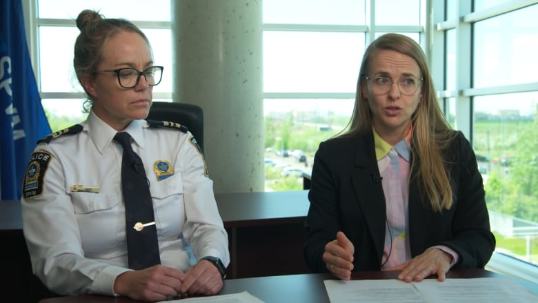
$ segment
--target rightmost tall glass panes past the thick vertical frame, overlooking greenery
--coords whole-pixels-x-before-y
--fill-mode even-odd
[[[537,15],[534,5],[472,24],[473,88],[538,82],[538,61],[530,59],[538,49]],[[472,143],[497,250],[538,264],[538,85],[472,101]]]

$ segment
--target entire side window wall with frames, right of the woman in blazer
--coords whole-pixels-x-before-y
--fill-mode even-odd
[[[488,266],[508,274],[514,271],[506,266],[518,268],[520,277],[537,282],[538,62],[530,58],[538,48],[538,1],[445,2],[434,34],[434,46],[444,48],[432,52],[444,62],[432,61],[432,70],[444,70],[436,86],[446,115],[471,140],[484,179],[497,238]]]

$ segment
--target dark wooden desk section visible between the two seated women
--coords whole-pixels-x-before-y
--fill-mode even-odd
[[[310,273],[303,257],[307,196],[308,190],[215,195],[230,242],[228,277]]]

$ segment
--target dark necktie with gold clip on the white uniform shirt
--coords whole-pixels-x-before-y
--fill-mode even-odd
[[[150,184],[142,160],[132,150],[130,139],[128,133],[114,136],[114,141],[123,146],[121,187],[125,202],[129,268],[137,270],[161,264],[161,258]]]

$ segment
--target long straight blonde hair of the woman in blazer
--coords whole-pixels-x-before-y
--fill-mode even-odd
[[[415,59],[420,68],[424,80],[421,85],[421,102],[411,117],[413,161],[410,176],[417,178],[420,193],[423,198],[426,197],[430,201],[433,211],[448,209],[452,206],[452,184],[443,152],[448,150],[450,143],[455,139],[455,132],[450,128],[439,108],[426,56],[417,42],[404,35],[386,34],[368,46],[357,80],[357,96],[355,108],[348,123],[349,128],[341,136],[353,136],[372,131],[372,113],[368,107],[368,101],[362,96],[362,86],[366,85],[368,63],[378,50],[395,50],[408,55]]]

